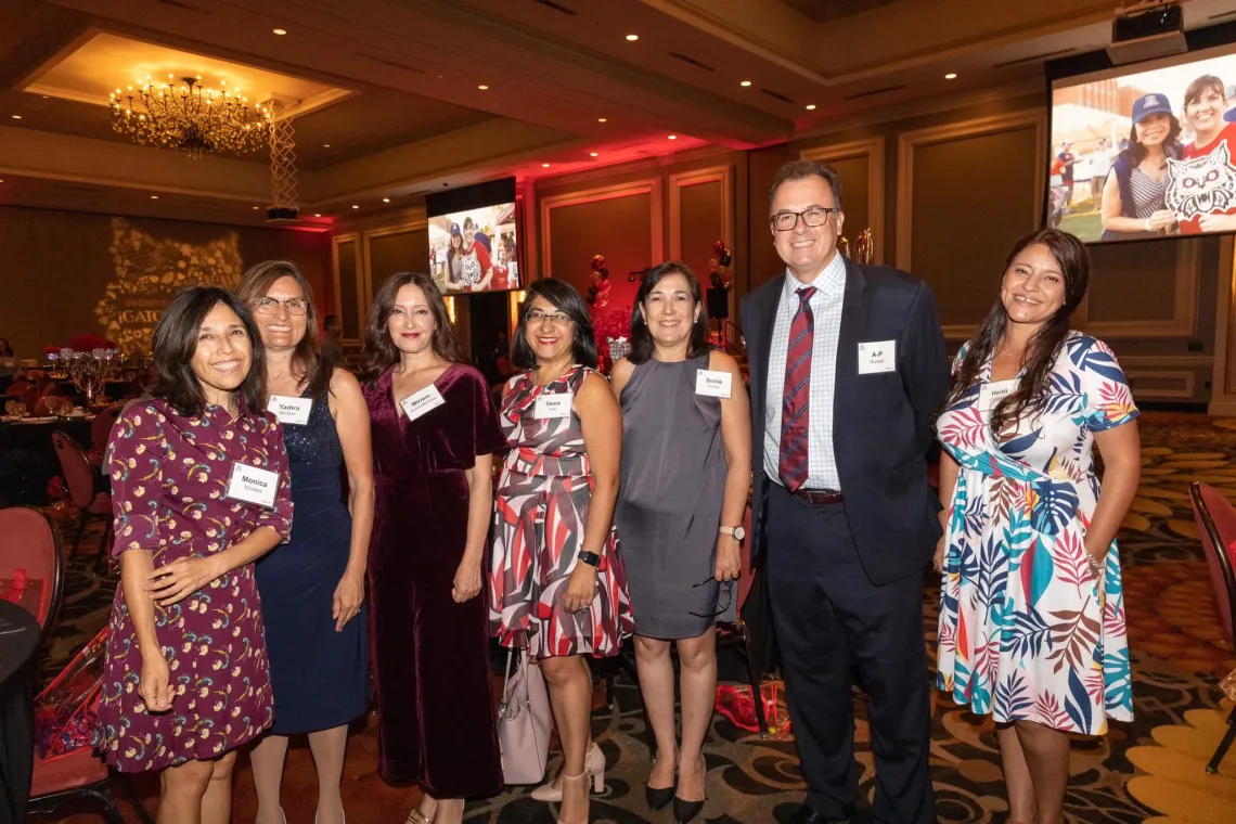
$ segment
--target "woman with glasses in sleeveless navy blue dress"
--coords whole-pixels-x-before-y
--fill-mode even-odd
[[[266,346],[268,409],[283,424],[295,505],[292,540],[257,566],[274,724],[253,747],[256,824],[283,824],[288,735],[309,734],[318,824],[344,824],[347,724],[367,703],[365,573],[373,526],[368,410],[361,387],[318,348],[313,293],[287,261],[245,273],[240,298]],[[340,467],[347,469],[342,502]]]

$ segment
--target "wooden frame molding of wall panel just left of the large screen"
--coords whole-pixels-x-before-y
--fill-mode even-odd
[[[1047,157],[1047,112],[1043,109],[1027,109],[1007,115],[964,120],[944,126],[932,126],[902,132],[897,136],[897,229],[896,229],[896,266],[905,272],[912,271],[911,245],[913,242],[913,205],[915,205],[915,151],[921,146],[948,143],[969,137],[995,135],[1026,127],[1035,128],[1036,153]],[[1047,164],[1036,163],[1035,199],[1027,211],[1027,226],[1038,226],[1043,214],[1043,195],[1047,191]],[[993,182],[995,185],[995,182]],[[955,329],[962,329],[957,326]],[[973,326],[965,326],[973,330]],[[949,327],[946,327],[948,335]],[[973,334],[973,331],[971,331]]]

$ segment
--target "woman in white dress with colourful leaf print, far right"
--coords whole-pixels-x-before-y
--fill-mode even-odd
[[[1089,274],[1072,235],[1021,238],[936,425],[937,686],[994,715],[1010,822],[1060,822],[1068,733],[1104,735],[1109,718],[1132,719],[1115,536],[1141,445],[1111,350],[1069,330]]]

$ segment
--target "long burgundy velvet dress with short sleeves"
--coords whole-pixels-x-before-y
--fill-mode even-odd
[[[486,599],[457,604],[451,589],[467,542],[464,473],[507,439],[475,368],[447,367],[434,382],[444,403],[415,420],[392,394],[393,371],[363,384],[377,492],[368,581],[378,772],[435,798],[492,796],[503,781]]]

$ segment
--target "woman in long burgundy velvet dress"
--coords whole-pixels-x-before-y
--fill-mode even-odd
[[[418,783],[409,824],[457,824],[502,789],[481,563],[493,453],[507,439],[481,373],[457,362],[446,304],[424,274],[373,299],[362,389],[377,499],[370,616],[378,772]]]

